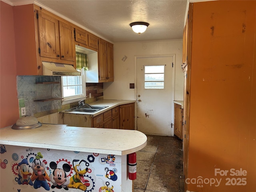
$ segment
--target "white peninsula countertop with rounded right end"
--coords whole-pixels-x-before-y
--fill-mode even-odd
[[[28,130],[0,129],[0,144],[57,150],[126,155],[146,146],[147,137],[136,130],[70,127],[42,124]]]

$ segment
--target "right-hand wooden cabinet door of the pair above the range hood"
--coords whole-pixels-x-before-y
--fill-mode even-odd
[[[74,40],[74,28],[64,22],[60,23],[60,59],[75,61],[76,50]]]

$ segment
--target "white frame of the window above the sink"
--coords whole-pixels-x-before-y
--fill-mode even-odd
[[[78,70],[78,71],[80,71],[80,70]],[[81,78],[82,78],[82,95],[64,97],[64,95],[63,95],[63,77],[61,77],[61,89],[62,89],[62,98],[63,98],[62,105],[69,104],[72,102],[78,102],[80,100],[86,99],[85,71],[84,71],[84,69],[82,69],[80,72],[81,72]]]

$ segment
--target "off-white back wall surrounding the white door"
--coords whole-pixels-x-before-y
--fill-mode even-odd
[[[135,56],[158,54],[176,55],[174,100],[183,100],[182,40],[114,44],[114,82],[104,83],[104,99],[136,100],[136,87],[129,88],[136,78]]]

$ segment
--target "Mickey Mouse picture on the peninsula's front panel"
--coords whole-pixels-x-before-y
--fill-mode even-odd
[[[70,183],[70,180],[67,178],[66,172],[69,172],[71,167],[69,164],[65,163],[62,165],[61,168],[57,168],[56,162],[50,162],[50,168],[53,169],[52,174],[50,174],[50,180],[52,182],[51,188],[54,189],[55,187],[57,189],[64,188],[65,190],[68,190],[68,184]]]

